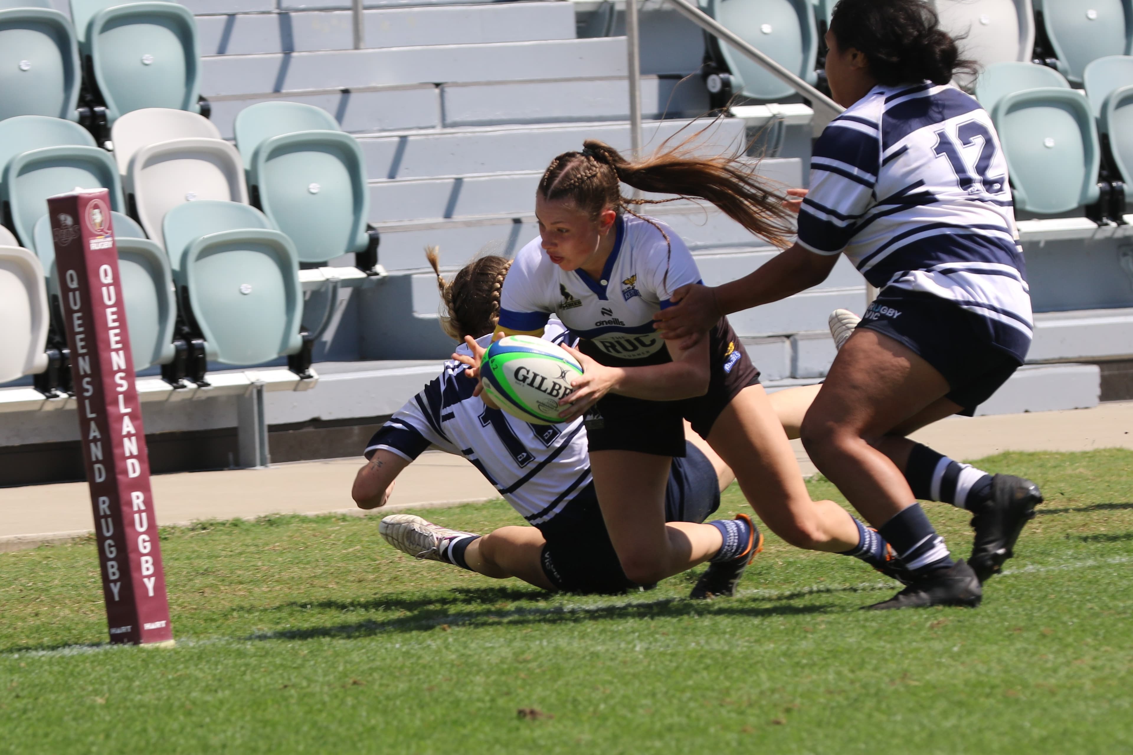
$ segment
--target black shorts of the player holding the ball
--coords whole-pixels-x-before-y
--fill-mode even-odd
[[[683,456],[682,419],[692,424],[697,435],[707,438],[716,418],[735,395],[759,384],[759,370],[751,363],[726,317],[719,319],[709,337],[708,393],[681,401],[647,401],[608,393],[586,413],[590,451]]]

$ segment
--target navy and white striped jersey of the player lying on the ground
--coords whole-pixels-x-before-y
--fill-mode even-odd
[[[544,338],[568,336],[559,320],[547,323]],[[479,340],[487,346],[492,336]],[[458,352],[467,346],[460,346]],[[531,524],[550,521],[590,484],[590,457],[582,420],[529,424],[472,396],[476,380],[455,360],[399,409],[370,439],[369,458],[385,448],[414,461],[436,445],[463,456],[495,486],[500,495]]]

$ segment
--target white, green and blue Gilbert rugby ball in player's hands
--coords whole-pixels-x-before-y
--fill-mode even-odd
[[[560,346],[529,335],[510,335],[488,346],[480,361],[484,392],[512,417],[534,424],[562,422],[559,400],[570,394],[582,367]]]

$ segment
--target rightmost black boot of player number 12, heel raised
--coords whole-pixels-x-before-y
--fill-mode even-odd
[[[972,512],[976,540],[968,563],[981,583],[998,574],[1003,563],[1014,555],[1019,533],[1034,518],[1034,507],[1041,503],[1042,494],[1030,480],[1011,474],[991,478],[990,500]]]

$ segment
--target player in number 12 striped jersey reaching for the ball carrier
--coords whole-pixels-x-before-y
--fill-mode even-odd
[[[796,243],[739,281],[674,292],[658,328],[695,348],[726,312],[816,285],[845,254],[880,294],[834,360],[803,445],[914,577],[874,608],[977,606],[1041,495],[905,436],[971,415],[1030,348],[1006,160],[990,117],[951,84],[970,65],[928,2],[841,0],[826,42],[847,110],[815,145]],[[974,514],[969,564],[953,561],[918,498]]]

